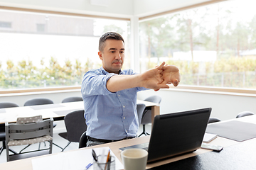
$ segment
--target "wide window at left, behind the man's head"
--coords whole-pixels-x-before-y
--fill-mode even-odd
[[[117,31],[129,42],[129,21],[0,10],[0,89],[79,86],[101,66],[100,36]],[[129,66],[129,43],[126,62]]]

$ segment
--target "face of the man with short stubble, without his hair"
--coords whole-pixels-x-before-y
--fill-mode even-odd
[[[102,67],[109,73],[119,73],[124,62],[124,42],[122,40],[106,40],[103,52],[98,52]]]

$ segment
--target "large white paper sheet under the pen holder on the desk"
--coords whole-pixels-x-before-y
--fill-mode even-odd
[[[107,154],[109,147],[94,148],[97,155],[104,152]],[[112,151],[110,154],[115,157],[115,169],[124,169],[124,166]],[[32,159],[33,170],[84,170],[87,164],[92,162],[92,149],[78,149],[70,152],[61,152],[46,157]],[[93,165],[90,166],[93,169]]]

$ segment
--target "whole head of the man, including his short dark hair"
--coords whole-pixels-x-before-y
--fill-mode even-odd
[[[118,74],[124,62],[124,39],[122,36],[114,32],[102,35],[98,55],[102,60],[102,67],[107,72]]]

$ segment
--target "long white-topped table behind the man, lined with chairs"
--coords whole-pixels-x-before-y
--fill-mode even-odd
[[[146,107],[151,107],[151,120],[154,120],[155,115],[159,115],[159,103],[151,103],[149,101],[137,100],[137,103],[144,103]],[[70,103],[58,103],[50,105],[38,106],[23,106],[17,108],[1,108],[0,109],[0,124],[6,121],[16,123],[18,117],[30,117],[33,115],[42,115],[43,119],[53,118],[53,120],[63,120],[65,115],[71,111],[84,109],[83,101]]]

